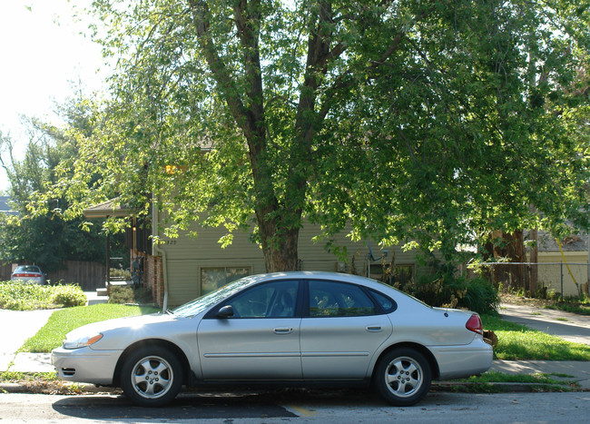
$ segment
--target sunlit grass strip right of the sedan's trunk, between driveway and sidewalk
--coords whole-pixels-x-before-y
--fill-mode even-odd
[[[590,346],[572,343],[525,326],[482,315],[484,329],[498,339],[494,357],[498,360],[590,360]]]

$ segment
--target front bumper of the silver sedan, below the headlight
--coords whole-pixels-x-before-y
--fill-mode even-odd
[[[51,363],[62,380],[108,386],[113,384],[114,369],[122,352],[57,348],[51,353]]]

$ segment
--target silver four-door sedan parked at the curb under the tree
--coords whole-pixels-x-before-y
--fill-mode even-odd
[[[143,406],[182,385],[372,384],[415,404],[431,380],[492,361],[477,313],[428,305],[363,277],[281,272],[234,281],[174,311],[86,325],[53,351],[60,378],[117,386]]]

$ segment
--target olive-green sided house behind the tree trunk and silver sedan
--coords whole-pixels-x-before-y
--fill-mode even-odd
[[[84,211],[86,218],[107,216],[130,216],[121,208],[113,209],[112,202],[105,202]],[[155,300],[163,307],[174,307],[201,296],[241,276],[265,271],[261,248],[250,241],[248,233],[235,232],[230,246],[222,249],[219,240],[225,234],[222,228],[195,228],[199,236],[182,233],[176,239],[168,239],[158,233],[159,213],[154,209],[154,225],[141,225],[133,218],[127,232],[126,245],[132,251],[132,261],[143,256],[143,281],[152,288]],[[379,279],[383,273],[382,263],[394,259],[394,275],[398,280],[416,279],[428,272],[418,267],[416,251],[401,251],[389,247],[379,251],[373,244],[374,256],[367,242],[351,242],[344,235],[339,246],[346,246],[349,261],[342,262],[324,249],[322,242],[313,242],[319,228],[305,225],[300,230],[300,271],[339,271],[370,275]],[[160,236],[161,243],[154,245],[152,236]],[[381,260],[381,256],[385,256]],[[377,258],[376,258],[377,257]]]

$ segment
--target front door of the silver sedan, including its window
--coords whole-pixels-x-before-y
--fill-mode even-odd
[[[221,303],[234,314],[205,316],[197,339],[204,380],[300,380],[299,281],[272,281]]]

